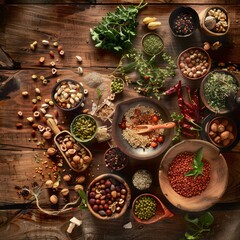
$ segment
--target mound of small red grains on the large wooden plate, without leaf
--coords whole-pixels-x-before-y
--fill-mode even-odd
[[[203,161],[203,172],[201,175],[186,176],[193,169],[194,153],[181,152],[176,155],[168,170],[168,179],[171,187],[179,195],[190,198],[200,195],[210,182],[210,164]]]

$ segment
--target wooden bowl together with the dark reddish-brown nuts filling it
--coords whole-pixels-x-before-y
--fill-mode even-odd
[[[88,186],[88,209],[98,219],[121,217],[127,210],[131,191],[126,181],[116,174],[102,174]]]

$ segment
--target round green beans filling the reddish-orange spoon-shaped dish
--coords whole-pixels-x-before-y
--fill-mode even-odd
[[[149,220],[155,216],[157,203],[150,196],[139,197],[134,204],[134,214],[141,220]]]

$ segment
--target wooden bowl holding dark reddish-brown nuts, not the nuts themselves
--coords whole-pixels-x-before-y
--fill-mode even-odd
[[[123,185],[124,188],[126,189],[126,196],[125,196],[125,199],[124,199],[123,206],[121,207],[121,211],[118,212],[117,209],[116,209],[116,211],[114,211],[111,215],[100,214],[99,211],[94,211],[93,208],[94,208],[95,203],[92,204],[92,203],[90,202],[90,200],[91,200],[90,194],[91,194],[91,192],[92,192],[94,189],[96,189],[96,183],[98,184],[98,183],[100,183],[101,180],[105,180],[105,181],[106,181],[107,179],[111,179],[112,182],[116,182],[116,183],[119,184],[119,185]],[[103,184],[103,183],[101,182],[101,184]],[[99,184],[99,186],[100,186],[100,184]],[[94,189],[93,189],[93,188],[94,188]],[[104,189],[104,191],[107,191],[107,190],[106,190],[107,188],[110,189],[109,187],[106,187],[106,188]],[[102,194],[101,191],[100,191],[99,194]],[[110,194],[111,194],[111,193],[110,193]],[[126,183],[126,181],[125,181],[123,178],[121,178],[120,176],[118,176],[118,175],[116,175],[116,174],[106,173],[106,174],[102,174],[102,175],[96,177],[96,178],[93,179],[93,181],[89,184],[89,186],[88,186],[88,188],[87,188],[87,197],[88,197],[88,209],[89,209],[89,211],[90,211],[96,218],[98,218],[98,219],[101,219],[101,220],[110,220],[110,219],[120,218],[120,217],[126,212],[128,206],[129,206],[129,204],[130,204],[130,200],[131,200],[131,190],[130,190],[128,184]],[[108,198],[108,196],[105,197],[105,200],[106,200],[107,198]],[[120,204],[120,203],[119,203],[120,200],[121,200],[121,199],[116,200],[116,198],[115,198],[115,200],[111,200],[111,201],[113,201],[112,204],[111,204],[112,207],[114,208],[114,206],[115,206],[115,207],[117,208],[117,207],[119,206],[119,204]],[[97,204],[97,203],[96,203],[96,204]],[[101,203],[100,203],[99,205],[101,205]],[[103,209],[100,209],[99,205],[98,205],[98,210],[103,210]],[[107,209],[105,209],[104,211],[106,212]]]

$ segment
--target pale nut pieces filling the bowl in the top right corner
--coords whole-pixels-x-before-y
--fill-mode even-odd
[[[224,33],[228,28],[227,13],[220,8],[212,8],[207,12],[204,23],[210,31]]]

